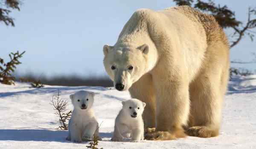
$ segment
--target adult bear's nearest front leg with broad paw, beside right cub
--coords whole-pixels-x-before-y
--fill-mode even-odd
[[[167,72],[166,72],[167,73]],[[161,75],[159,75],[161,76]],[[162,80],[163,79],[163,80]],[[156,78],[157,112],[156,129],[148,131],[148,140],[173,140],[186,137],[182,125],[186,125],[189,115],[189,83],[184,78]]]

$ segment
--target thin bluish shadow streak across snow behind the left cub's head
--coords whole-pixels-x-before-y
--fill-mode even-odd
[[[79,90],[80,89],[81,90],[99,90],[99,91],[109,90],[109,89],[107,89],[105,87],[100,87],[100,86],[44,87],[44,88],[40,88],[40,89],[36,88],[36,89],[31,89],[31,90],[26,90],[26,91],[4,92],[4,93],[0,93],[0,97],[19,95],[19,94],[45,94],[45,93],[53,93],[53,92],[57,92],[58,89],[60,91],[68,91],[68,90],[74,90],[74,89],[79,89]]]

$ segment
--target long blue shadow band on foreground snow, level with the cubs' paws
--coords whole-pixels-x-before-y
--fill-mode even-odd
[[[65,130],[47,129],[0,129],[0,140],[14,141],[55,141],[73,143],[67,141],[68,132]],[[99,133],[101,138],[111,138],[112,133]]]

